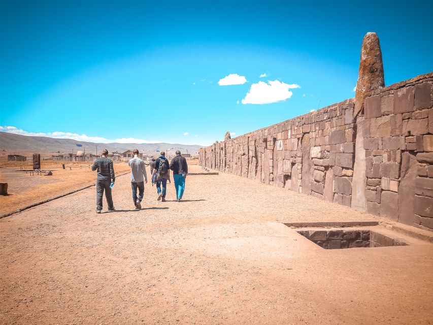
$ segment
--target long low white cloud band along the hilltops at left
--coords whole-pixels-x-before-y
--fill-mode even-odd
[[[30,137],[48,137],[48,138],[55,138],[55,139],[72,139],[76,141],[85,141],[85,142],[97,142],[97,143],[158,143],[160,141],[149,141],[149,140],[143,140],[143,139],[136,139],[136,138],[120,138],[120,139],[107,139],[104,137],[89,137],[85,134],[77,134],[77,133],[71,133],[71,132],[27,132],[23,129],[18,129],[15,126],[0,126],[0,131],[7,132],[7,133],[13,133],[18,134],[21,136],[30,136]]]

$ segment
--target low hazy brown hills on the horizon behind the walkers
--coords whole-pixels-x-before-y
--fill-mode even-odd
[[[81,144],[82,147],[78,147]],[[158,151],[167,151],[170,148],[181,148],[181,152],[196,153],[202,146],[199,145],[185,145],[173,143],[95,143],[76,141],[72,139],[56,139],[48,137],[30,137],[21,136],[13,133],[0,132],[0,149],[6,151],[13,151],[14,153],[20,152],[35,152],[35,153],[49,153],[49,152],[64,152],[76,153],[77,151],[85,150],[86,153],[100,154],[101,150],[106,148],[109,153],[118,151],[122,153],[126,150],[138,149],[141,152],[151,153]],[[183,149],[182,149],[183,148]]]

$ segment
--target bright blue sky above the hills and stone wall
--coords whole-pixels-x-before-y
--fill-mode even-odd
[[[0,6],[0,128],[18,134],[209,145],[353,97],[368,31],[386,85],[433,71],[427,1]]]

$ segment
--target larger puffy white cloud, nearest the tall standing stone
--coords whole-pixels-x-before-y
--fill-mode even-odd
[[[270,104],[285,101],[292,96],[293,93],[289,89],[293,88],[301,88],[301,86],[286,84],[278,80],[269,80],[268,83],[259,81],[251,85],[242,104]]]

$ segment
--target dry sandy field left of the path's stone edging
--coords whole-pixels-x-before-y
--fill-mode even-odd
[[[0,166],[15,163],[3,162]],[[0,215],[15,211],[32,203],[59,196],[75,189],[94,184],[96,172],[90,167],[91,163],[66,163],[62,169],[61,162],[43,161],[41,168],[50,169],[52,176],[26,173],[22,170],[31,170],[28,161],[17,163],[14,167],[0,168],[0,182],[8,183],[8,196],[0,196]],[[115,174],[129,171],[127,163],[114,164]]]

